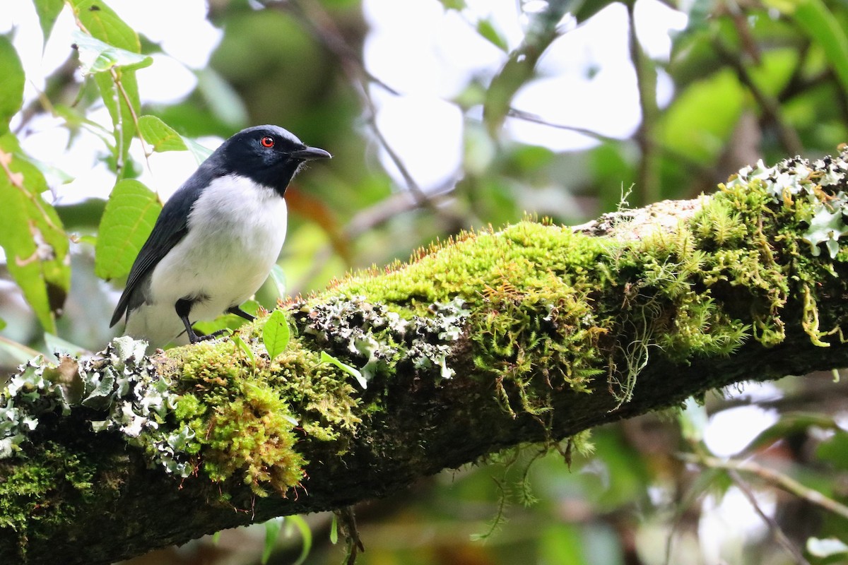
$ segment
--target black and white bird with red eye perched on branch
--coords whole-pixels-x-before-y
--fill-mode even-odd
[[[165,202],[114,309],[125,334],[165,346],[192,324],[233,313],[259,290],[286,238],[283,197],[304,163],[331,158],[277,125],[241,130],[218,147]],[[184,339],[183,339],[184,341]]]

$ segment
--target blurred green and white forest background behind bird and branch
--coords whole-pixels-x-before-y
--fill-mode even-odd
[[[265,306],[459,230],[692,198],[848,141],[842,0],[106,3],[153,58],[142,114],[210,149],[271,123],[332,152],[287,193]],[[112,121],[70,8],[45,30],[48,4],[3,3],[0,32],[26,75],[11,128],[71,235],[72,282],[47,335],[0,256],[2,374],[33,350],[102,349],[122,286],[93,269]],[[197,162],[134,141],[129,167],[165,200]],[[445,471],[356,508],[358,562],[848,562],[846,399],[839,374],[787,377],[595,429],[594,455],[526,446]],[[331,529],[329,513],[282,518],[132,563],[342,562]]]

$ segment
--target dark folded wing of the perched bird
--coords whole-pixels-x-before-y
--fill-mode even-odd
[[[120,295],[118,306],[114,308],[109,327],[118,323],[126,312],[134,293],[144,286],[144,280],[153,272],[159,261],[188,233],[188,214],[192,211],[192,205],[203,187],[209,184],[212,173],[209,169],[203,166],[198,169],[165,203],[165,208],[162,208],[162,212],[159,213],[156,224],[153,224],[153,231],[150,232],[148,241],[144,242],[135,263],[132,263],[130,276],[126,280],[123,294]]]

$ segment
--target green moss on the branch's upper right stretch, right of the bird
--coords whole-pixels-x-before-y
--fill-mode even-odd
[[[848,258],[838,246],[848,227],[836,212],[848,205],[846,169],[845,155],[772,169],[759,163],[704,197],[673,230],[656,226],[633,237],[622,221],[599,238],[522,222],[460,235],[333,292],[387,304],[403,319],[460,297],[471,313],[464,331],[476,372],[494,379],[506,410],[516,410],[507,383],[519,408],[538,414],[550,391],[589,391],[602,373],[621,404],[651,356],[688,363],[729,355],[749,340],[777,345],[793,293],[804,297],[804,329],[826,345],[816,281],[835,271],[816,256],[824,243],[834,260]]]

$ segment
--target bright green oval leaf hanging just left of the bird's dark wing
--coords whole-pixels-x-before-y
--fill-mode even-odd
[[[94,274],[104,280],[128,274],[161,210],[159,198],[147,186],[137,180],[120,180],[100,220]]]

